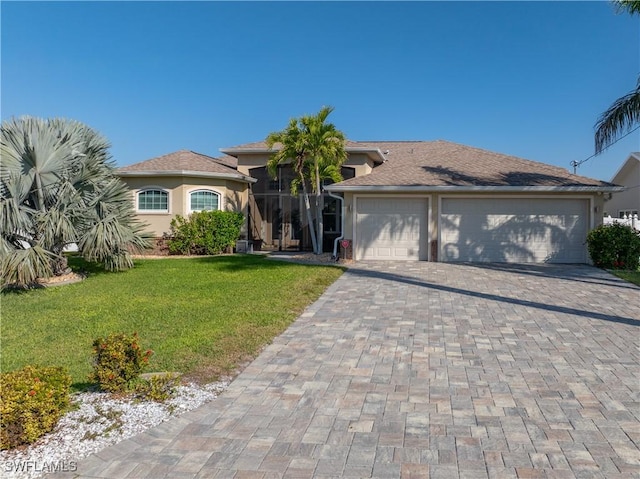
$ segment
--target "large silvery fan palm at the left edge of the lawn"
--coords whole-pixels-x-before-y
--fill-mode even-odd
[[[0,127],[0,279],[28,285],[67,272],[77,244],[107,270],[133,266],[147,247],[126,185],[114,175],[109,143],[71,120],[23,117]]]

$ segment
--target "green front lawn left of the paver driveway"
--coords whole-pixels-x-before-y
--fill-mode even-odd
[[[149,370],[213,381],[255,357],[342,274],[258,255],[140,260],[122,273],[71,264],[91,274],[76,284],[2,294],[2,371],[63,366],[79,389],[95,338],[137,332],[155,352]]]

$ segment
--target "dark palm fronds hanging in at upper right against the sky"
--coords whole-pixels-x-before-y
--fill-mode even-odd
[[[613,2],[618,12],[640,14],[640,1],[617,0]],[[640,77],[635,90],[618,98],[598,119],[595,128],[596,155],[602,153],[624,133],[640,123]]]

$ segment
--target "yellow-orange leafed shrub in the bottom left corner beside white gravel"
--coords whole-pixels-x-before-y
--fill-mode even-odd
[[[0,449],[31,444],[51,431],[69,406],[63,368],[25,366],[0,374]]]

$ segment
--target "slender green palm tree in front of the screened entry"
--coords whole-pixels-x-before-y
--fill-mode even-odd
[[[291,193],[302,189],[313,251],[322,252],[322,181],[341,181],[340,167],[347,159],[344,134],[332,123],[326,123],[332,107],[323,107],[316,115],[291,119],[282,131],[270,133],[269,148],[279,144],[267,162],[269,173],[275,178],[279,165],[292,163],[296,177],[291,182]],[[318,228],[314,228],[309,190],[315,195]]]

